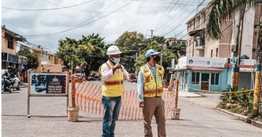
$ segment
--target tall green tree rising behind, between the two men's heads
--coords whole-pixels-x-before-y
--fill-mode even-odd
[[[128,32],[125,31],[117,40],[115,45],[123,52],[121,54],[121,64],[128,72],[131,72],[135,64],[136,52],[139,52],[139,47],[143,49],[144,45],[138,45],[139,43],[145,43],[144,35],[137,31]]]

